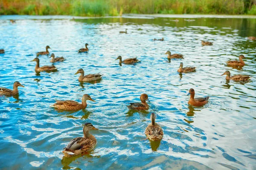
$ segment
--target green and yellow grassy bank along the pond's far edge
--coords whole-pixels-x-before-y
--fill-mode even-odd
[[[0,0],[0,14],[251,14],[256,0]]]

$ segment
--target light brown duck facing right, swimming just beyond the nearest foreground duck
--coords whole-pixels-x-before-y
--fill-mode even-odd
[[[50,105],[50,107],[66,111],[78,111],[87,107],[86,100],[95,102],[88,94],[84,94],[82,104],[73,100],[56,100],[56,103]]]

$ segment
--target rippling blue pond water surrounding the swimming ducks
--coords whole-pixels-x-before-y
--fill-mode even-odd
[[[186,16],[187,17],[187,16]],[[19,81],[19,96],[0,96],[0,169],[256,169],[256,36],[254,18],[167,17],[28,17],[0,16],[0,87]],[[8,19],[15,19],[11,23]],[[119,31],[128,29],[128,34]],[[164,41],[152,41],[160,39]],[[200,40],[214,42],[201,46]],[[88,43],[89,52],[78,54]],[[49,45],[57,72],[35,73],[36,52]],[[167,62],[166,51],[184,59]],[[232,68],[230,59],[243,54],[246,65]],[[119,66],[115,60],[138,57],[136,65]],[[41,56],[40,65],[51,65]],[[195,66],[195,73],[177,69]],[[86,74],[101,72],[102,80],[80,83]],[[247,74],[250,82],[227,82],[220,76]],[[196,108],[187,104],[190,88],[196,96],[210,96]],[[129,112],[130,102],[148,94],[150,109]],[[81,102],[85,110],[57,111],[55,99]],[[163,128],[160,145],[145,139],[150,113]],[[63,159],[71,139],[83,136],[84,123],[96,147],[87,155]]]

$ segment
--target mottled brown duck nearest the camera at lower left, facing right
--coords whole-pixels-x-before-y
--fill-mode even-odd
[[[80,154],[83,154],[96,146],[96,138],[90,134],[90,130],[98,130],[91,123],[85,123],[83,132],[84,137],[77,137],[72,139],[67,147],[62,151],[65,157],[73,157]]]

